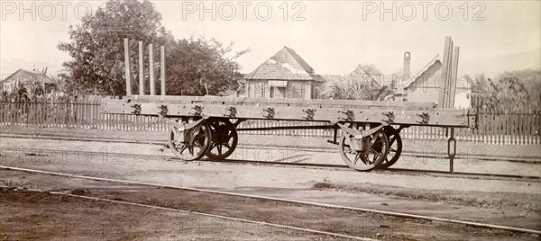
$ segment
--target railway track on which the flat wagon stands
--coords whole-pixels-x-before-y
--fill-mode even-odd
[[[321,168],[330,170],[341,170],[356,172],[349,168],[347,165],[330,165],[330,164],[315,164],[315,163],[295,163],[295,162],[275,162],[275,161],[256,161],[256,160],[241,160],[241,159],[212,159],[204,158],[194,161],[180,160],[175,156],[167,155],[142,155],[142,154],[129,154],[129,153],[112,153],[112,152],[99,152],[99,151],[85,151],[85,150],[56,150],[46,148],[21,148],[21,147],[0,147],[0,151],[12,151],[23,152],[26,156],[37,155],[36,153],[45,154],[77,154],[77,155],[90,155],[90,156],[108,156],[116,158],[128,158],[128,159],[170,159],[178,160],[182,162],[207,162],[207,163],[221,163],[228,165],[265,165],[265,166],[283,166],[283,167],[299,167],[299,168]],[[379,174],[409,174],[409,175],[432,175],[451,178],[469,178],[469,179],[486,179],[486,180],[513,180],[524,182],[541,182],[541,176],[529,176],[529,175],[513,175],[513,174],[480,174],[480,173],[463,173],[454,172],[449,174],[445,171],[435,170],[421,170],[421,169],[405,169],[405,168],[387,168],[383,170],[375,170],[373,173]]]

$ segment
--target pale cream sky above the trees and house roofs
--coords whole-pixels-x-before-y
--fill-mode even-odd
[[[460,47],[459,73],[497,76],[541,68],[540,1],[151,1],[176,39],[204,36],[235,50],[250,73],[287,46],[317,73],[344,75],[371,64],[385,75],[411,73],[443,56],[445,36]],[[0,73],[19,68],[61,70],[69,60],[57,49],[69,25],[105,1],[0,0]]]

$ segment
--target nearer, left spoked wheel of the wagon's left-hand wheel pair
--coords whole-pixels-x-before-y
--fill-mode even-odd
[[[189,122],[193,121],[183,121],[183,123]],[[175,156],[186,161],[197,160],[205,156],[212,138],[206,121],[199,123],[192,129],[181,130],[173,126],[170,129],[170,148]]]

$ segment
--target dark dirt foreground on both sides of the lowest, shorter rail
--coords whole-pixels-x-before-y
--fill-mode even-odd
[[[122,185],[48,174],[0,171],[0,237],[4,240],[331,240],[272,228],[105,201],[30,192],[40,189],[193,212],[292,225],[383,240],[536,240],[535,235],[464,225],[324,209],[277,201]],[[16,181],[6,181],[16,180]]]

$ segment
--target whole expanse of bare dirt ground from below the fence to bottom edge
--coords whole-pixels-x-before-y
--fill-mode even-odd
[[[99,136],[97,133],[96,137]],[[107,133],[102,133],[101,138],[108,135]],[[274,140],[274,142],[280,142],[280,140]],[[199,187],[299,201],[316,201],[541,230],[541,204],[539,204],[541,203],[541,182],[538,180],[473,179],[426,174],[359,173],[349,169],[182,162],[167,157],[172,156],[167,148],[144,144],[144,142],[127,145],[86,141],[81,144],[78,141],[0,138],[0,147],[5,146],[25,149],[15,148],[12,151],[1,152],[0,165],[145,183]],[[37,152],[32,151],[32,147],[80,149],[81,151],[96,151],[96,153]],[[124,156],[121,158],[103,155],[100,152],[115,152],[115,147],[124,148],[125,153],[163,157]],[[266,150],[266,153],[261,153],[261,147],[239,148],[239,153],[236,155],[239,159],[255,154],[259,154],[259,157],[263,154],[271,154],[273,158],[278,158],[277,160],[282,158],[280,156],[286,155],[288,158],[282,158],[284,162],[295,162],[299,158],[310,162],[318,160],[339,162],[339,155],[330,149],[268,147]],[[241,156],[238,156],[239,154]],[[255,157],[254,159],[257,160]],[[416,164],[432,168],[437,163],[437,160],[428,159],[426,164],[423,162]],[[484,163],[475,168],[499,171],[503,174],[541,175],[541,165],[537,160],[522,164],[503,160]],[[259,226],[250,231],[246,228],[236,228],[243,227],[243,223],[223,220],[220,221],[234,229],[219,227],[217,229],[225,231],[216,234],[212,231],[216,228],[203,228],[203,230],[198,228],[199,223],[207,227],[209,225],[206,224],[209,222],[210,227],[213,227],[213,221],[195,214],[126,205],[120,207],[119,204],[102,201],[62,198],[45,193],[28,192],[23,191],[23,188],[66,193],[75,191],[75,193],[95,197],[228,214],[377,239],[539,239],[537,236],[486,228],[399,220],[344,210],[315,209],[283,203],[238,200],[231,197],[210,197],[201,193],[179,193],[172,190],[95,183],[14,171],[0,172],[0,185],[5,186],[5,189],[0,192],[0,240],[3,238],[6,240],[90,238],[108,240],[329,240],[332,238],[280,228],[267,228],[263,232],[259,231],[262,229]],[[14,188],[17,188],[17,191]],[[111,213],[115,215],[110,215]],[[195,223],[195,226],[188,226],[187,223]]]

